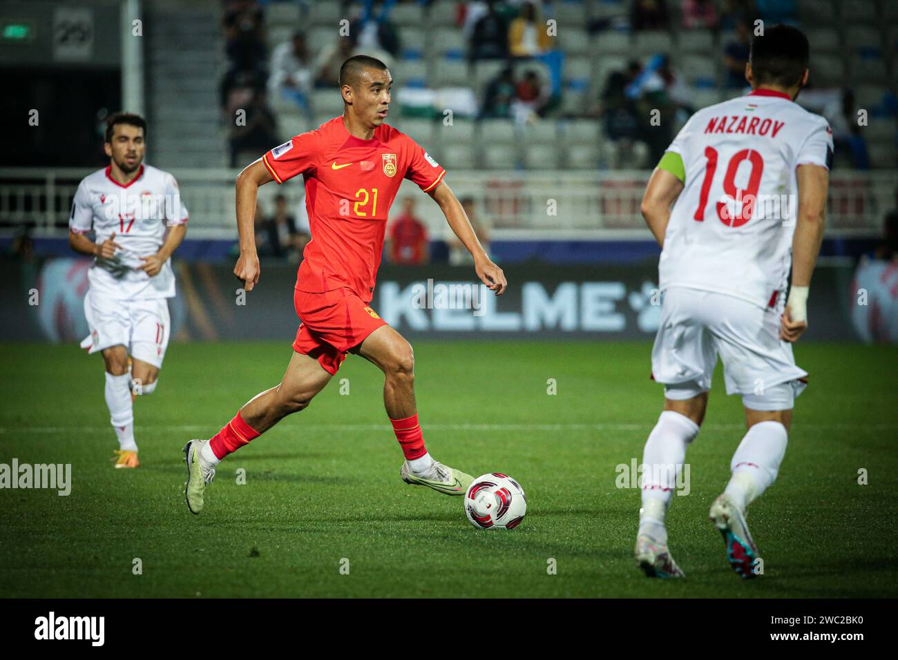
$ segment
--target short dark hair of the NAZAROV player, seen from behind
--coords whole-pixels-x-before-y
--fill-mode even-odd
[[[810,59],[805,33],[791,25],[773,25],[752,40],[748,61],[755,84],[794,87],[801,83]]]

